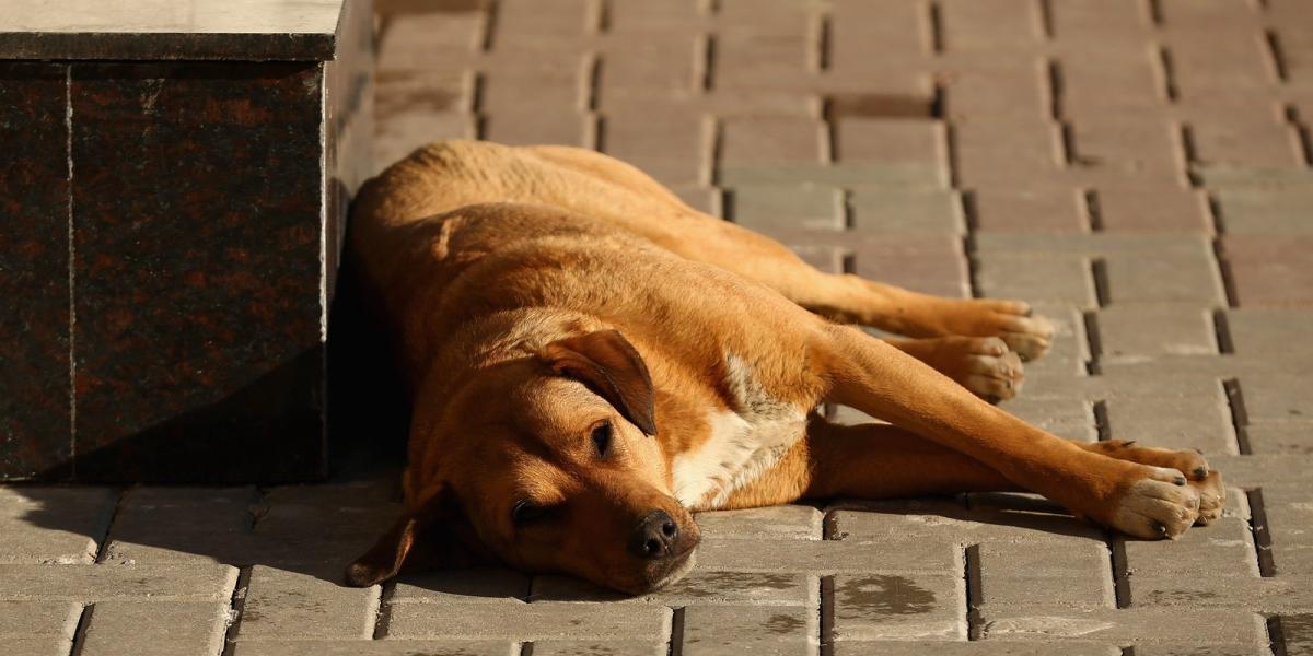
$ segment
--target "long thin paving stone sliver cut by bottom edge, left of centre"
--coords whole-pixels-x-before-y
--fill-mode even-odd
[[[519,656],[512,640],[255,640],[232,656]],[[534,649],[537,653],[537,649]]]

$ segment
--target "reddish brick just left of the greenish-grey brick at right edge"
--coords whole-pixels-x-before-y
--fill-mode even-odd
[[[1098,190],[1099,224],[1108,232],[1208,232],[1208,197],[1197,189],[1108,185]]]

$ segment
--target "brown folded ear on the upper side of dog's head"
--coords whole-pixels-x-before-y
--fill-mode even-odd
[[[649,436],[656,434],[655,391],[638,349],[620,331],[595,331],[548,344],[542,359],[587,384]]]

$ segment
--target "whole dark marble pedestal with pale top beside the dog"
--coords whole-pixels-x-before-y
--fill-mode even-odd
[[[369,0],[0,0],[0,480],[326,472]]]

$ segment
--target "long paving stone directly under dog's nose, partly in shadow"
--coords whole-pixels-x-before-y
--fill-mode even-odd
[[[532,601],[607,601],[660,604],[664,606],[738,604],[798,606],[817,604],[819,583],[805,573],[704,572],[638,597],[597,588],[569,576],[538,576],[533,580]]]

